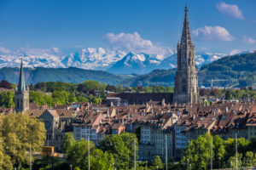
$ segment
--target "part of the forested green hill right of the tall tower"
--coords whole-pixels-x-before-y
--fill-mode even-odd
[[[211,79],[225,80],[215,82],[214,85],[227,88],[256,85],[256,53],[218,59],[209,65],[203,65],[198,76],[199,82],[205,86],[209,86]]]

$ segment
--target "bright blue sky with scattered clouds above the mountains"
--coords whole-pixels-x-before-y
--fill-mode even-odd
[[[255,0],[0,0],[0,53],[175,50],[186,3],[195,51],[256,49]]]

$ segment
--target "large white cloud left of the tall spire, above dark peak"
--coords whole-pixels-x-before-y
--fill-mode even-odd
[[[159,47],[150,40],[143,39],[138,32],[119,34],[108,33],[104,37],[108,46],[113,49],[134,51],[146,54],[173,54],[172,48]]]

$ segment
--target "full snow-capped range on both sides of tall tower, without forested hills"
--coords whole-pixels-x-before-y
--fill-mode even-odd
[[[78,67],[87,70],[110,71],[115,74],[145,74],[155,69],[170,69],[177,65],[177,54],[163,48],[157,54],[125,52],[108,48],[81,48],[76,53],[57,54],[0,54],[0,68],[19,67],[22,56],[26,67]],[[226,54],[196,53],[199,67],[220,59]]]

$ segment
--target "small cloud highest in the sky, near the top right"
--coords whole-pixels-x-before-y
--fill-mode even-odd
[[[230,16],[233,16],[237,19],[244,19],[241,10],[238,8],[238,6],[236,4],[228,4],[228,3],[224,3],[224,2],[219,2],[216,5],[216,8],[218,9],[219,12],[221,12],[222,14],[227,14]]]

